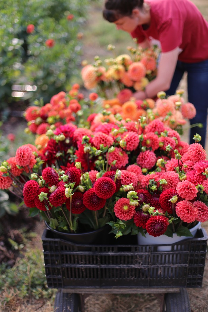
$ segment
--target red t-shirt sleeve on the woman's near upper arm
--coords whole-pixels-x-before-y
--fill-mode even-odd
[[[168,19],[158,29],[162,52],[169,52],[180,46],[183,36],[181,19]]]

